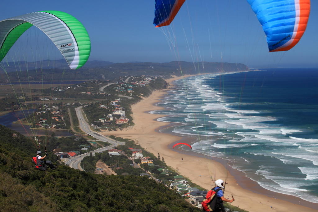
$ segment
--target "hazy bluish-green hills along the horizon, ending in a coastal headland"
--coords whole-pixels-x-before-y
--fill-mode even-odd
[[[152,75],[168,78],[171,75],[181,76],[184,74],[217,73],[248,71],[249,68],[241,63],[212,63],[185,61],[172,61],[169,63],[129,62],[112,63],[108,61],[87,61],[77,69],[69,69],[65,60],[44,60],[37,62],[18,63],[9,62],[0,64],[0,82],[7,82],[7,76],[1,70],[8,72],[10,81],[39,81],[43,80],[88,80],[88,79],[115,79],[120,76]],[[25,72],[28,70],[28,72]],[[43,70],[39,72],[40,70]],[[17,72],[18,71],[18,72]],[[18,73],[18,74],[17,74]],[[41,74],[39,74],[41,73]],[[17,76],[19,75],[19,76]],[[53,76],[52,76],[53,75]]]

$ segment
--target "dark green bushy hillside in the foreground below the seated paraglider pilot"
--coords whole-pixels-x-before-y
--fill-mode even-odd
[[[31,162],[35,151],[30,139],[0,126],[1,210],[201,211],[147,177],[91,174],[64,165],[38,171]]]

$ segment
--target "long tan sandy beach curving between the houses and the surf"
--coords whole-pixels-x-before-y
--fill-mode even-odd
[[[174,77],[166,81],[171,85],[174,80],[189,76]],[[172,88],[173,86],[169,86],[168,89]],[[210,176],[216,179],[226,179],[228,184],[225,188],[225,197],[227,198],[229,195],[231,199],[231,195],[233,195],[235,201],[231,204],[239,208],[248,211],[318,211],[318,204],[260,187],[256,182],[245,177],[244,173],[226,167],[226,163],[222,159],[186,150],[172,149],[174,143],[184,138],[170,133],[161,133],[160,131],[164,131],[164,128],[171,127],[173,124],[156,121],[162,115],[149,113],[149,111],[162,109],[155,104],[162,99],[166,92],[167,90],[155,91],[150,97],[132,106],[135,126],[122,131],[104,131],[102,134],[135,140],[154,155],[159,153],[168,166],[178,169],[179,174],[205,189],[213,187]],[[185,142],[190,143],[190,141]]]

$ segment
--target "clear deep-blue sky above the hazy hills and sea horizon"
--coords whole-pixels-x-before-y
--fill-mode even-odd
[[[160,63],[204,60],[244,63],[249,67],[318,67],[317,1],[311,1],[308,26],[301,41],[289,51],[271,53],[265,34],[245,0],[187,0],[173,24],[160,29],[152,24],[154,0],[94,3],[16,0],[2,6],[0,19],[40,10],[70,13],[86,27],[92,42],[89,60]],[[26,36],[30,38],[34,31],[37,29],[30,29]],[[17,45],[21,45],[24,37]],[[41,39],[49,43],[44,36]],[[53,51],[58,55],[58,51]]]

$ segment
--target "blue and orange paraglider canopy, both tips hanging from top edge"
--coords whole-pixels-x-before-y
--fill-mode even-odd
[[[156,27],[169,25],[185,0],[155,0]],[[287,51],[304,34],[310,0],[247,0],[267,37],[268,50]]]

